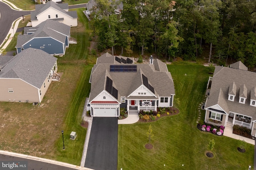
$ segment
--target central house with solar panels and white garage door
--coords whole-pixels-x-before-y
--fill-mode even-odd
[[[98,57],[89,82],[87,109],[93,117],[118,117],[120,108],[138,114],[173,106],[172,76],[165,63],[152,57],[150,64],[134,64],[133,58],[105,53]]]

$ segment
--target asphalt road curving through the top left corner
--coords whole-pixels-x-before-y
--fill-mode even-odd
[[[30,11],[12,10],[8,5],[4,4],[4,2],[0,2],[0,14],[0,44],[2,44],[12,26],[12,22],[22,15],[30,14]]]

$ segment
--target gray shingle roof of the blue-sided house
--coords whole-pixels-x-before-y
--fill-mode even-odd
[[[69,25],[53,20],[46,20],[40,23],[37,27],[32,27],[32,29],[36,30],[34,30],[35,32],[30,35],[18,35],[16,47],[22,47],[26,42],[38,37],[52,37],[62,43],[65,43],[66,36],[69,36],[70,34]],[[26,28],[26,32],[28,32],[28,28]]]

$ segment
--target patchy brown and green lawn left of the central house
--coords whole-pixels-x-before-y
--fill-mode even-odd
[[[78,44],[70,45],[66,55],[58,57],[58,72],[63,75],[60,82],[52,82],[40,106],[0,102],[0,150],[80,165],[86,137],[80,122],[90,92],[92,68],[85,64],[90,43],[88,22],[82,10],[77,9],[79,27],[71,28],[71,36],[77,38]],[[69,139],[71,131],[77,133],[75,141]]]

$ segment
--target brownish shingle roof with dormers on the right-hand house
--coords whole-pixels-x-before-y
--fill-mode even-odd
[[[246,70],[240,70],[236,68],[228,68],[222,66],[216,66],[212,86],[210,90],[210,96],[207,99],[205,108],[212,107],[219,104],[222,109],[241,113],[244,115],[252,116],[253,120],[256,119],[256,107],[250,106],[250,99],[255,99],[256,96],[252,96],[256,86],[256,73]],[[234,102],[228,100],[228,92],[230,84],[236,84],[236,92]],[[239,87],[239,88],[238,88]],[[245,90],[247,88],[247,92]],[[219,95],[220,89],[222,89],[223,95]],[[242,94],[247,96],[245,104],[239,103],[240,90]],[[226,102],[227,106],[223,106]],[[226,108],[227,107],[227,108]]]

